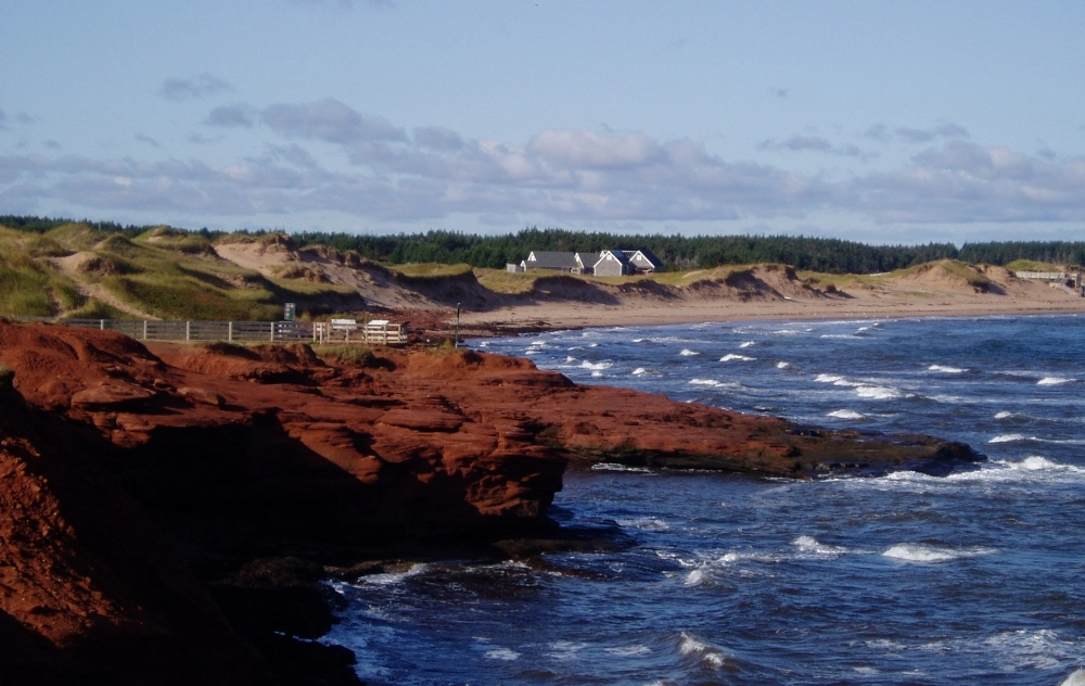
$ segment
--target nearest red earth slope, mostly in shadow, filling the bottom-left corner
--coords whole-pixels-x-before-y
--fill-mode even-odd
[[[0,385],[0,683],[271,684],[102,443]]]

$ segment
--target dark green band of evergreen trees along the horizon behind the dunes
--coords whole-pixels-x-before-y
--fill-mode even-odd
[[[48,217],[0,216],[9,228],[44,232],[68,219]],[[113,221],[82,221],[99,231],[136,237],[153,226],[122,226]],[[197,231],[210,240],[222,231],[206,228]],[[239,231],[263,236],[267,230]],[[602,250],[650,250],[664,262],[667,270],[707,269],[722,265],[781,263],[796,269],[829,274],[878,274],[904,269],[935,259],[960,259],[973,264],[1006,265],[1016,259],[1054,264],[1085,264],[1085,242],[1069,241],[993,241],[926,245],[868,245],[856,241],[805,236],[664,236],[570,231],[528,227],[515,233],[477,236],[458,231],[432,230],[425,233],[359,234],[346,232],[299,231],[290,234],[298,247],[326,245],[340,251],[355,251],[362,257],[386,264],[465,263],[472,267],[501,269],[519,264],[532,251],[598,253]]]

